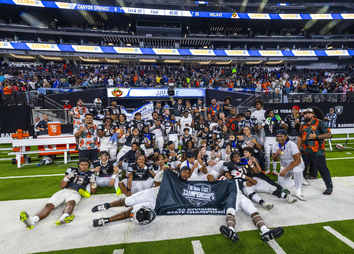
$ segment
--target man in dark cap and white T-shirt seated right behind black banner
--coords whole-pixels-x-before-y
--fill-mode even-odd
[[[187,152],[187,160],[182,162],[181,170],[187,166],[190,168],[190,180],[192,181],[214,181],[214,176],[208,173],[207,168],[201,159],[195,160],[193,151]]]

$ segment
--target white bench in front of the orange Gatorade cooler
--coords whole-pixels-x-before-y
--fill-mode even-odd
[[[69,144],[75,144],[75,137],[62,137],[62,138],[36,138],[36,139],[13,139],[12,147],[22,146],[21,152],[10,152],[8,155],[16,155],[17,159],[17,167],[21,167],[21,154],[23,154],[23,158],[25,164],[28,164],[28,154],[49,154],[52,152],[64,152],[64,163],[68,163],[68,159],[70,160],[70,151],[75,151],[74,148],[69,148]],[[61,145],[66,144],[66,149],[49,149],[49,150],[36,150],[36,151],[25,151],[26,146],[35,146],[35,145]],[[23,164],[22,166],[24,166]]]

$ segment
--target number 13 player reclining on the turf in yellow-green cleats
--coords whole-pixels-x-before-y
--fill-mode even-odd
[[[70,223],[74,219],[74,206],[81,200],[81,192],[87,184],[90,184],[92,193],[96,193],[97,185],[95,181],[95,173],[87,171],[90,161],[87,158],[81,158],[78,168],[70,167],[65,171],[65,177],[60,183],[60,190],[53,194],[47,201],[45,207],[41,209],[34,217],[25,211],[20,213],[20,219],[26,225],[27,229],[33,229],[39,220],[46,218],[52,210],[65,202],[63,215],[56,221],[56,225]]]

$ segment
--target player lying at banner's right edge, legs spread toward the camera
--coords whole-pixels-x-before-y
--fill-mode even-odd
[[[225,174],[226,175],[226,174]],[[240,189],[244,187],[250,187],[257,184],[257,181],[251,177],[247,177],[246,175],[240,173],[237,170],[231,171],[231,174],[227,174],[227,179],[232,179],[232,175],[236,179],[236,188],[235,191],[230,191],[227,197],[227,208],[226,208],[226,226],[222,225],[220,227],[221,234],[229,238],[232,241],[237,242],[239,240],[238,234],[235,232],[235,215],[236,215],[236,208],[240,207],[244,210],[245,213],[249,214],[252,218],[253,224],[261,230],[262,235],[261,239],[263,242],[268,242],[272,239],[276,239],[282,236],[284,233],[284,229],[282,227],[277,227],[275,229],[268,229],[265,226],[265,223],[259,215],[258,210],[253,205],[253,203],[244,195]],[[225,179],[225,180],[227,180]],[[230,181],[230,180],[227,180]],[[235,193],[237,195],[235,195]]]

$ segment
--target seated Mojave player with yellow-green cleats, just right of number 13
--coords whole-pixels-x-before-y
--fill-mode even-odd
[[[99,152],[99,159],[94,160],[91,163],[91,171],[97,173],[98,177],[96,177],[96,184],[98,187],[112,187],[114,186],[117,195],[121,194],[119,189],[119,168],[118,162],[115,159],[109,158],[109,154],[107,151]],[[90,186],[86,187],[86,191],[89,191]]]

